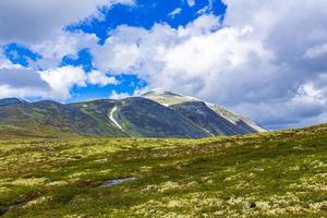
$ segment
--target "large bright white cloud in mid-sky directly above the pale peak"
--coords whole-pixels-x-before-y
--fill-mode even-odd
[[[214,15],[203,15],[179,29],[160,24],[150,31],[121,26],[111,33],[104,47],[93,51],[95,63],[102,71],[137,73],[153,87],[227,101],[240,93],[229,88],[263,75],[257,71],[269,66],[272,55],[261,41],[249,37],[251,27],[215,31],[219,26]],[[256,71],[251,71],[246,80],[239,76],[241,69],[252,68],[252,61],[258,59],[263,63],[255,64]],[[264,83],[271,76],[263,76]],[[217,92],[219,96],[215,95]]]

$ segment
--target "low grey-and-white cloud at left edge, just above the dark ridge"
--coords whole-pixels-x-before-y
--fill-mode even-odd
[[[46,71],[36,71],[16,64],[3,64],[0,68],[0,98],[43,97],[68,99],[74,86],[87,84],[106,86],[117,85],[113,76],[93,70],[86,73],[81,66],[58,66]]]

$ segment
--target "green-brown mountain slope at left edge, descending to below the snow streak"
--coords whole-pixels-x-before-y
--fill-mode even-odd
[[[124,135],[110,123],[102,125],[77,107],[49,100],[1,107],[0,126],[49,134]]]

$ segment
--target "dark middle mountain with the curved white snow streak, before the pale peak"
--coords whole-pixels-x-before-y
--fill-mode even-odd
[[[105,104],[107,102],[107,104]],[[208,134],[173,110],[142,97],[72,105],[99,123],[111,123],[129,136],[205,137]]]

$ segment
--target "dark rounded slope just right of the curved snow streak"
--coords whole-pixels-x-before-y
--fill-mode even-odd
[[[114,119],[131,136],[205,137],[208,133],[183,116],[153,100],[133,97],[117,104]]]

